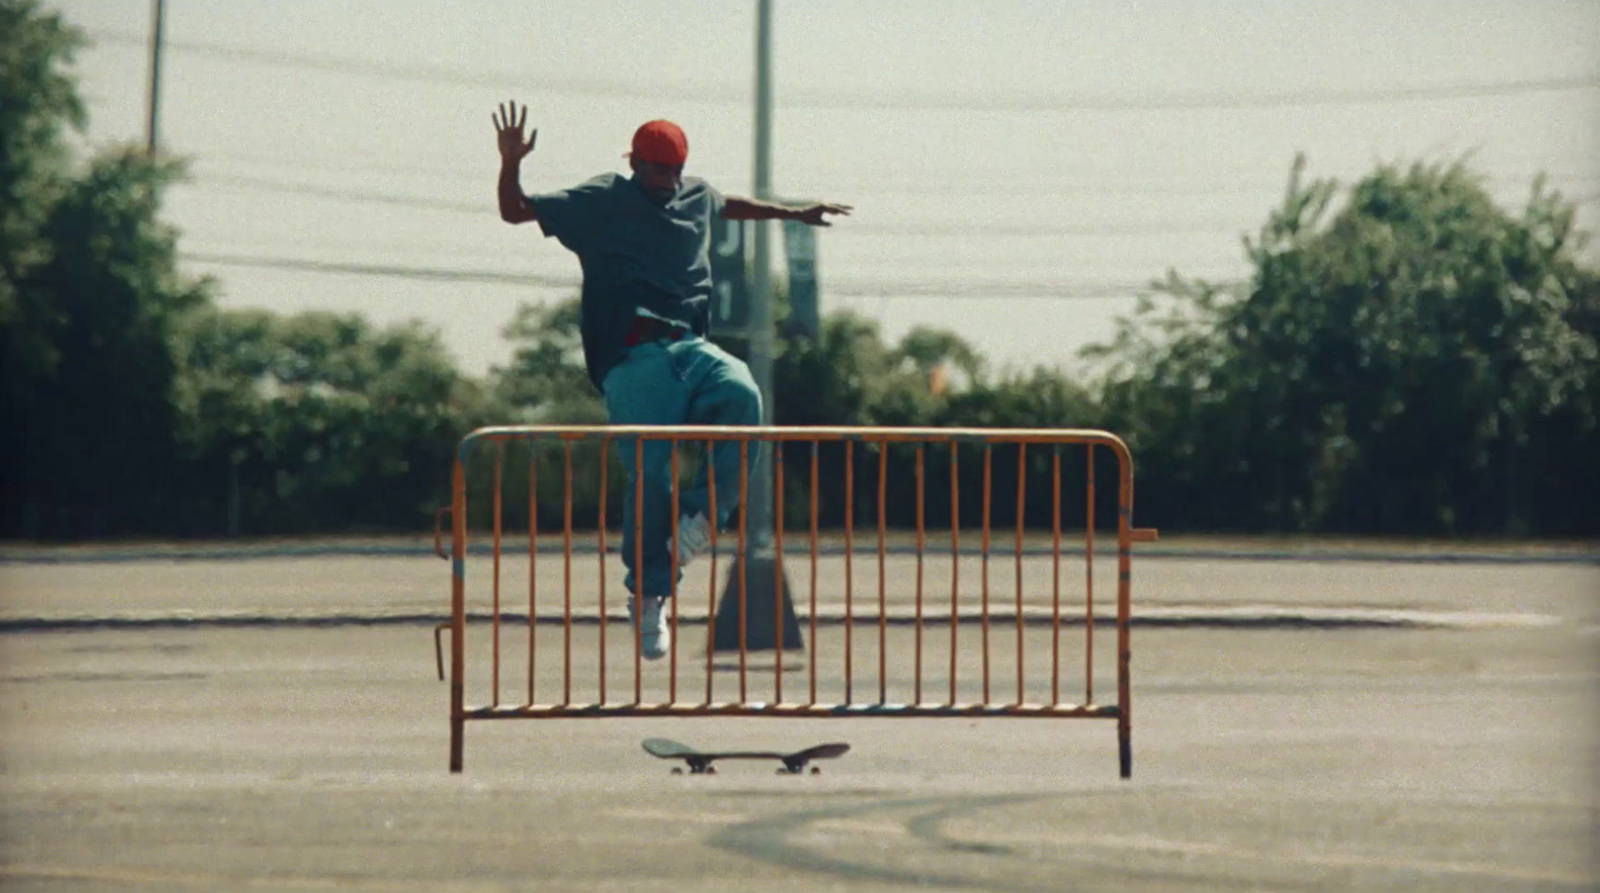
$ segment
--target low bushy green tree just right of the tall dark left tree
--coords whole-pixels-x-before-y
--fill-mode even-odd
[[[446,501],[456,442],[494,414],[419,323],[208,310],[184,336],[198,530],[218,527],[229,487],[250,533],[416,530]]]

